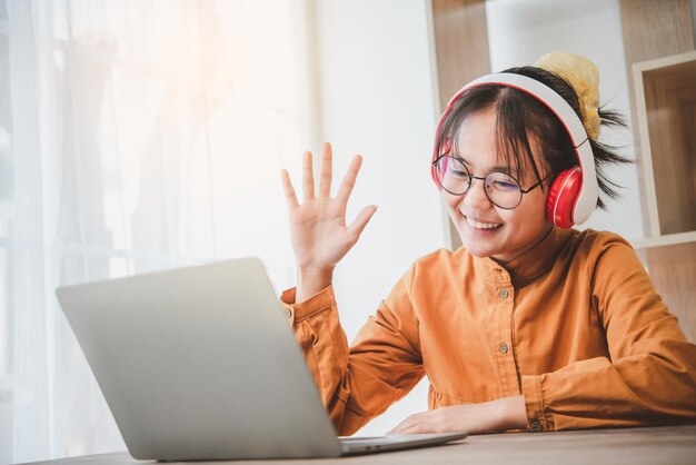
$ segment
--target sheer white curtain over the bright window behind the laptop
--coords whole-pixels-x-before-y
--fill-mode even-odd
[[[0,0],[0,463],[125,449],[56,287],[236,256],[292,281],[279,170],[316,145],[306,16]]]

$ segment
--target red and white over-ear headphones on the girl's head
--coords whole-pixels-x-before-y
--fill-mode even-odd
[[[549,110],[556,115],[558,120],[568,131],[575,154],[578,158],[578,165],[574,168],[561,171],[549,189],[546,198],[546,217],[549,221],[560,228],[570,228],[574,225],[580,225],[589,218],[599,197],[599,186],[597,185],[597,175],[595,172],[595,157],[593,155],[589,138],[583,126],[583,121],[556,91],[550,87],[521,75],[509,72],[497,72],[483,76],[464,86],[447,103],[445,112],[437,123],[435,133],[436,147],[432,148],[432,161],[438,157],[437,139],[441,131],[441,126],[447,116],[453,110],[457,100],[469,89],[480,86],[505,86],[517,90],[521,90],[546,105]],[[431,165],[430,174],[432,180],[441,189],[437,182],[435,166]]]

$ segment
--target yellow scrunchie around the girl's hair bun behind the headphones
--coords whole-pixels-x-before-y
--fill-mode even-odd
[[[535,67],[558,75],[575,89],[580,100],[583,126],[590,139],[599,137],[599,72],[590,60],[566,51],[553,51],[539,58]]]

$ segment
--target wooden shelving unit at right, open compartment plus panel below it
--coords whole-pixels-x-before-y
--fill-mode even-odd
[[[696,340],[696,51],[633,65],[645,239],[664,301]]]

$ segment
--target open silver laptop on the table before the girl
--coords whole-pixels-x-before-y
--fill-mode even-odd
[[[257,258],[56,294],[135,458],[335,457],[467,436],[338,438]]]

